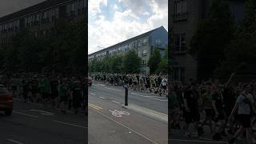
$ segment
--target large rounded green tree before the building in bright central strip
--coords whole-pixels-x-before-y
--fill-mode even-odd
[[[142,58],[139,58],[134,50],[127,51],[123,57],[122,66],[127,74],[140,73],[141,64]]]

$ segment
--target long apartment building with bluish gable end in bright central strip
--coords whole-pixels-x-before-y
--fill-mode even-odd
[[[106,56],[121,55],[125,54],[128,50],[135,50],[138,57],[142,58],[141,73],[149,74],[150,68],[147,66],[147,62],[150,59],[150,55],[153,53],[154,49],[158,49],[163,56],[167,45],[168,32],[161,26],[134,38],[127,39],[124,42],[119,42],[114,46],[89,54],[88,61],[91,62],[94,59],[102,60],[106,58]]]

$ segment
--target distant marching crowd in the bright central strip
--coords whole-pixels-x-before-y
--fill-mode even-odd
[[[93,73],[90,76],[112,86],[128,86],[131,90],[168,96],[167,76],[162,74],[106,74]]]

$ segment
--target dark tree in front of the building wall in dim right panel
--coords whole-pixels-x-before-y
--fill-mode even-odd
[[[214,0],[190,42],[190,54],[198,62],[198,79],[210,78],[225,60],[225,50],[234,34],[234,18],[224,0]]]

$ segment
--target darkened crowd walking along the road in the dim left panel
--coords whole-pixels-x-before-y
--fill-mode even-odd
[[[86,78],[61,74],[2,74],[0,82],[14,98],[23,98],[24,102],[60,108],[64,114],[66,110],[77,114],[79,109],[86,109]]]

